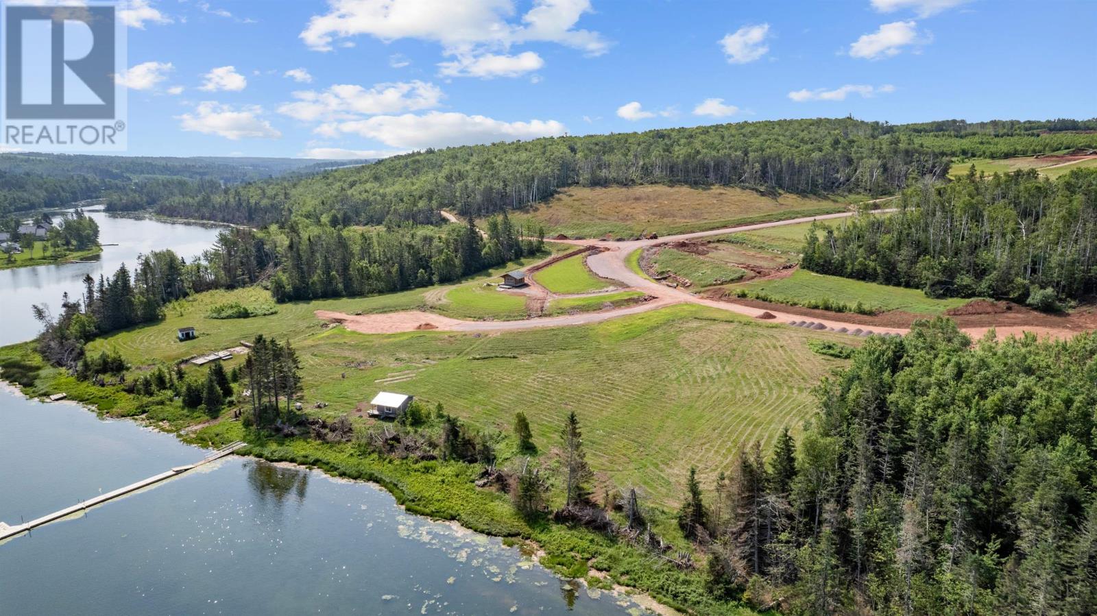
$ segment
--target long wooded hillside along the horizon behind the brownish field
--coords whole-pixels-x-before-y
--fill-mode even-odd
[[[801,194],[892,194],[947,175],[955,156],[1000,157],[1097,147],[1090,121],[890,125],[839,119],[721,124],[498,142],[396,156],[308,178],[251,182],[157,204],[168,216],[257,227],[291,214],[346,213],[360,225],[437,224],[439,209],[483,216],[566,186],[735,185]],[[1007,129],[1005,125],[1010,127]],[[975,126],[975,128],[970,128]]]

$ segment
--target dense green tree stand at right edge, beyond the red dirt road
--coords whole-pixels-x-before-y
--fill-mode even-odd
[[[805,241],[802,265],[814,272],[1055,309],[1097,290],[1097,170],[923,181],[897,213]]]

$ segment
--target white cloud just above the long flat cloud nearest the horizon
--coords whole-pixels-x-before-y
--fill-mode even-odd
[[[279,113],[313,122],[436,107],[442,100],[442,90],[433,83],[415,80],[377,83],[369,90],[361,85],[337,84],[323,92],[294,92],[293,96],[297,100],[283,103],[278,109]]]

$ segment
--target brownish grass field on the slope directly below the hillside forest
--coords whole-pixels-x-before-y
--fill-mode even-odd
[[[511,217],[527,227],[543,226],[548,237],[660,236],[717,229],[798,216],[845,210],[853,197],[779,197],[732,187],[687,186],[570,187]]]

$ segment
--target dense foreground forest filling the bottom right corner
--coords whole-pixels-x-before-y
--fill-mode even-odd
[[[972,343],[945,318],[869,339],[799,443],[687,484],[711,590],[800,614],[1094,614],[1095,356],[1093,334]]]

